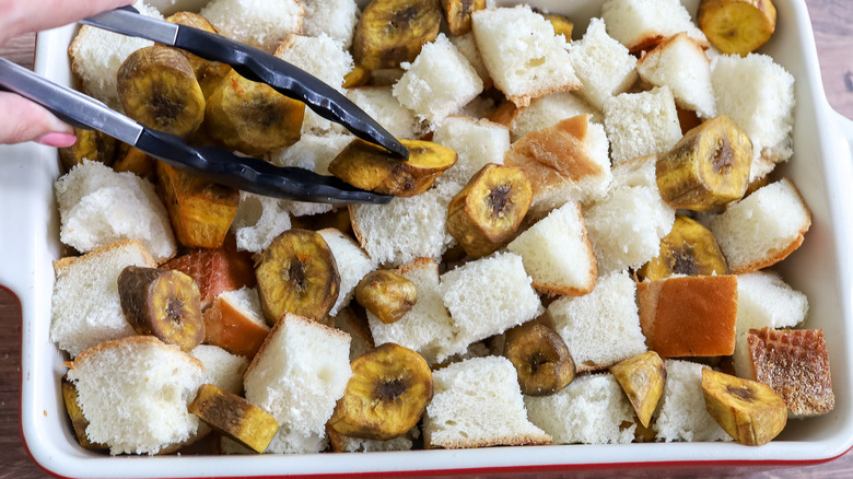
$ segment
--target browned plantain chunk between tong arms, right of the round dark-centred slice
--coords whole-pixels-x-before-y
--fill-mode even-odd
[[[305,104],[231,71],[208,98],[205,129],[230,150],[261,156],[300,139]]]

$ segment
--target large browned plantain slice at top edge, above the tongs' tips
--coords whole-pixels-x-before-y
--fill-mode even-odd
[[[372,0],[352,38],[352,58],[367,70],[412,61],[441,27],[439,0]]]

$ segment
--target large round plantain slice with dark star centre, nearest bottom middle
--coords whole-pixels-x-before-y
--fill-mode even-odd
[[[350,363],[352,376],[328,427],[375,441],[399,437],[420,421],[432,399],[432,371],[417,352],[393,342]]]

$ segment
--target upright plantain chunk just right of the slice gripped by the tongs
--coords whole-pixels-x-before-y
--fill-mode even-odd
[[[451,201],[447,231],[468,255],[489,255],[512,240],[531,199],[524,170],[489,163]]]

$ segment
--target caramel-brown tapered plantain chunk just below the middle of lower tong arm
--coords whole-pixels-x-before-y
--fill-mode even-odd
[[[177,241],[189,247],[217,248],[237,214],[239,191],[156,162],[157,189]]]

